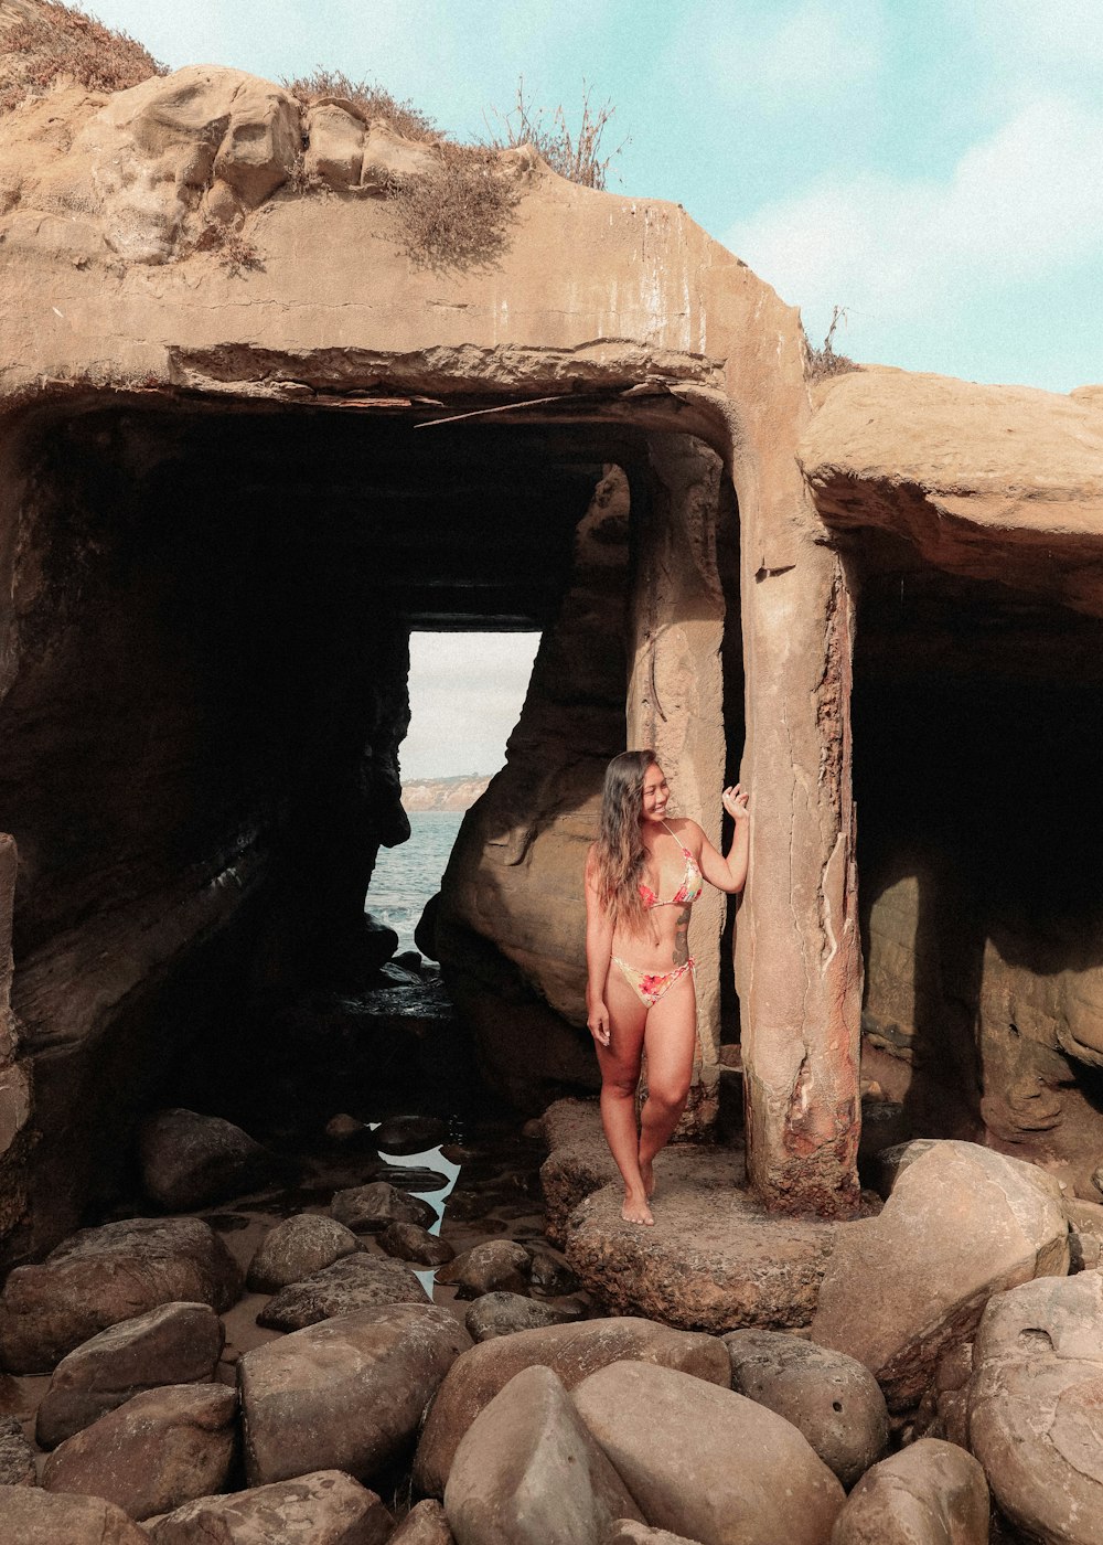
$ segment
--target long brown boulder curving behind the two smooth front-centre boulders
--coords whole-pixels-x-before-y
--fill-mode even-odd
[[[565,1389],[573,1389],[599,1367],[624,1358],[681,1369],[725,1389],[731,1380],[721,1341],[669,1330],[650,1319],[590,1319],[482,1341],[457,1358],[433,1401],[414,1458],[416,1486],[428,1496],[443,1496],[460,1438],[514,1374],[539,1364],[550,1367]]]

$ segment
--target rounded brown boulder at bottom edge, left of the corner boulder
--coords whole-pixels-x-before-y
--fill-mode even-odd
[[[836,1519],[831,1545],[987,1545],[984,1471],[956,1443],[919,1438],[874,1465]]]

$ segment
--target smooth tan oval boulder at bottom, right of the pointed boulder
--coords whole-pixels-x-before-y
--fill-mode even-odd
[[[592,1374],[573,1400],[649,1523],[701,1545],[828,1545],[843,1489],[765,1406],[646,1363]]]

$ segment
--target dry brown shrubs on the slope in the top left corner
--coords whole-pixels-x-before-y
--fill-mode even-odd
[[[0,32],[0,113],[71,79],[90,91],[125,91],[167,70],[127,32],[57,0],[19,8],[23,20]]]

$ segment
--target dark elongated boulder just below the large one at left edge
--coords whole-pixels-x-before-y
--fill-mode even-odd
[[[54,1448],[145,1389],[210,1383],[222,1341],[209,1304],[162,1304],[100,1330],[54,1369],[39,1406],[39,1446]]]

